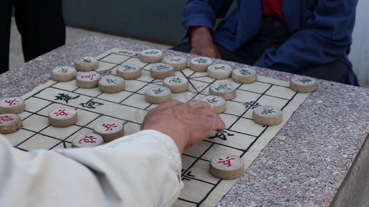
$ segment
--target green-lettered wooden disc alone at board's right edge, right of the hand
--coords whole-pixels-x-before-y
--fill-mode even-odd
[[[273,126],[282,120],[282,111],[274,106],[258,106],[253,110],[253,121],[258,124]]]

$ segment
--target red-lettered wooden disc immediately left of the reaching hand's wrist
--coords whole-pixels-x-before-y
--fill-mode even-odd
[[[118,121],[100,121],[93,126],[93,133],[100,135],[104,141],[113,141],[123,137],[125,130]]]

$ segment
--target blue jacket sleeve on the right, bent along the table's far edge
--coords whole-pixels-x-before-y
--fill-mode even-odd
[[[305,10],[301,29],[280,46],[266,50],[255,66],[298,72],[348,55],[357,0],[317,1]]]

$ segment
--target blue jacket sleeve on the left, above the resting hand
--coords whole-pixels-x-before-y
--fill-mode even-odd
[[[232,2],[233,0],[188,0],[182,17],[185,35],[191,26],[206,26],[214,31],[215,19],[224,17]]]

